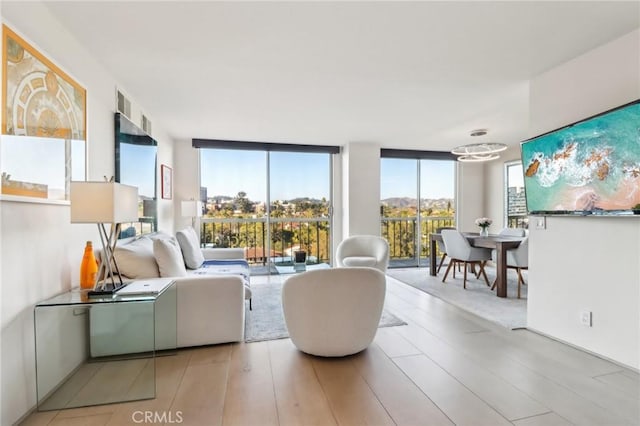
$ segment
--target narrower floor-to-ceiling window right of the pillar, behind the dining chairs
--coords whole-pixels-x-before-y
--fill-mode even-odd
[[[390,267],[426,266],[429,233],[455,226],[455,167],[448,154],[382,150],[381,235]]]

